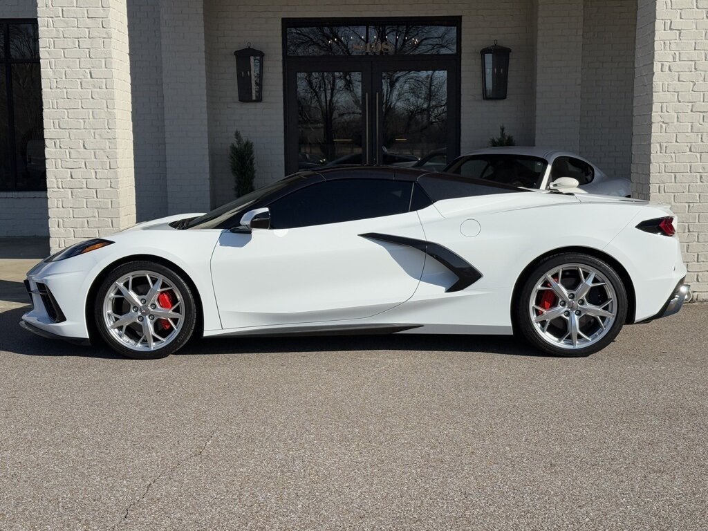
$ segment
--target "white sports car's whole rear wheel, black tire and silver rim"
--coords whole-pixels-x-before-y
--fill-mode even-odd
[[[627,318],[627,290],[604,261],[583,253],[549,256],[525,278],[517,329],[536,348],[586,356],[609,345]]]

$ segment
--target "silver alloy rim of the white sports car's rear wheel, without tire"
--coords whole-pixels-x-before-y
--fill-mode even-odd
[[[605,275],[590,265],[560,265],[536,282],[529,317],[547,343],[569,350],[585,348],[612,328],[617,294]]]

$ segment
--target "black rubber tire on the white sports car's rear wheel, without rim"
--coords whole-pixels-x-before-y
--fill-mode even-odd
[[[564,264],[581,264],[587,265],[590,268],[595,268],[595,270],[598,270],[598,272],[603,275],[606,282],[609,282],[617,299],[617,304],[615,306],[615,317],[612,324],[608,326],[607,329],[602,329],[601,331],[598,328],[598,332],[600,333],[598,339],[594,343],[588,344],[588,346],[585,347],[581,347],[579,345],[573,348],[570,346],[566,348],[556,346],[552,344],[549,339],[544,338],[542,336],[542,331],[539,331],[539,329],[537,329],[537,327],[532,323],[532,317],[530,315],[532,310],[530,309],[530,304],[531,297],[537,297],[537,294],[534,293],[535,287],[539,285],[539,282],[542,281],[544,275],[549,272],[549,270],[560,268]],[[569,267],[569,271],[572,270],[573,268]],[[573,279],[571,279],[571,281],[572,280]],[[521,282],[523,282],[523,285],[518,291],[517,300],[513,302],[515,331],[520,332],[526,341],[531,343],[531,345],[538,350],[541,350],[543,353],[564,356],[567,358],[579,358],[598,352],[598,350],[602,350],[615,340],[619,331],[622,330],[624,321],[627,319],[627,290],[624,287],[622,279],[619,278],[617,272],[610,265],[598,258],[595,258],[595,256],[590,256],[584,253],[559,253],[549,256],[540,261],[535,268],[533,268],[530,273],[525,276],[525,278],[521,279]],[[559,302],[559,304],[561,303]],[[570,302],[564,302],[562,304],[570,304]],[[582,308],[583,307],[578,307],[581,311]],[[538,313],[541,314],[542,312],[539,311]],[[583,318],[585,318],[584,315]],[[583,318],[578,317],[578,321]],[[558,319],[561,318],[559,317]],[[586,321],[586,323],[587,322],[588,321]],[[593,326],[593,321],[589,322],[590,326]],[[603,333],[604,335],[602,335]]]

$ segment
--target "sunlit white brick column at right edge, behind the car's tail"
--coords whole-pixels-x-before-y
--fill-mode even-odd
[[[639,0],[632,183],[679,218],[687,283],[708,300],[708,0]]]

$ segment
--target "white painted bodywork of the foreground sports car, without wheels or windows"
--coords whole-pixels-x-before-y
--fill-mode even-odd
[[[89,338],[89,292],[102,272],[133,256],[180,268],[193,283],[204,336],[400,326],[399,333],[512,333],[510,307],[528,265],[557,249],[605,253],[627,270],[634,321],[656,316],[685,277],[676,236],[636,229],[668,207],[581,193],[527,192],[440,200],[401,215],[297,229],[178,230],[178,215],[106,236],[85,255],[42,262],[43,282],[66,320],[52,322],[39,295],[23,320],[64,338]],[[430,253],[362,237],[380,233],[445,247],[479,270],[468,287]]]

